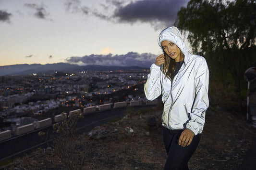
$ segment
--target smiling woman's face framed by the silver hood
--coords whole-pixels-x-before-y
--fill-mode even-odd
[[[162,41],[161,46],[164,50],[164,52],[175,60],[175,62],[181,61],[181,50],[177,45],[175,45],[173,42],[170,41]]]

